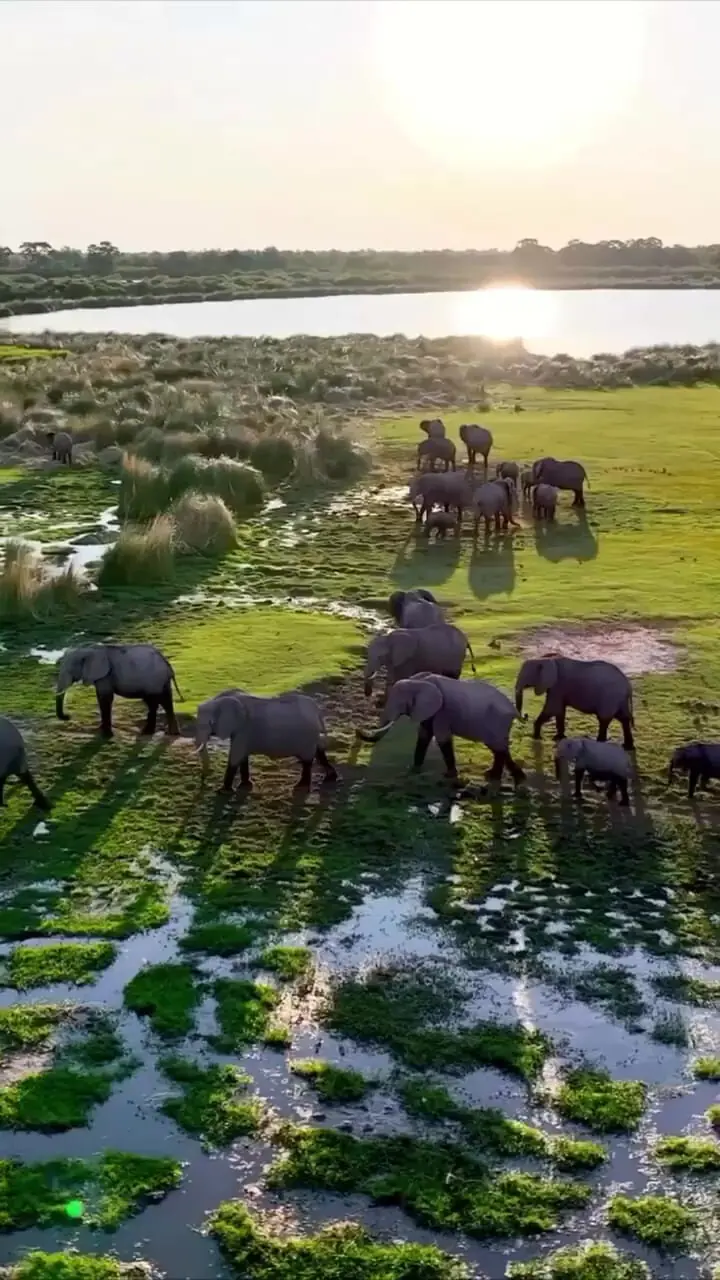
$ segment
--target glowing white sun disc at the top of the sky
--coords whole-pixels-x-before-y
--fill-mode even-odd
[[[454,165],[579,151],[642,74],[651,0],[379,0],[377,61],[413,141]]]

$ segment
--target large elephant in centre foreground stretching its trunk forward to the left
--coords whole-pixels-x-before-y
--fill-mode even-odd
[[[515,782],[525,774],[510,754],[510,730],[518,719],[512,703],[487,680],[452,680],[450,676],[419,675],[398,680],[392,686],[380,727],[373,732],[357,730],[364,742],[379,742],[401,716],[419,724],[413,768],[420,769],[428,746],[436,739],[447,777],[457,778],[452,737],[482,742],[492,751],[489,781],[500,782],[506,768]]]

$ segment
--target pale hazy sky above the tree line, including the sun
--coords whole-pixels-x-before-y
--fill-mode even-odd
[[[0,244],[720,241],[720,0],[0,0]]]

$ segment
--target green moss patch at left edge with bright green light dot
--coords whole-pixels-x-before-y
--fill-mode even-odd
[[[68,1222],[67,1206],[79,1201],[83,1222],[113,1230],[149,1199],[179,1185],[177,1160],[106,1151],[99,1161],[0,1160],[0,1231]]]

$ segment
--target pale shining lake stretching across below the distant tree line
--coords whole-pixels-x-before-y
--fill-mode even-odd
[[[55,311],[0,320],[10,333],[163,333],[177,338],[348,333],[523,338],[530,351],[591,356],[720,340],[720,289],[497,287],[465,293],[338,294]]]

